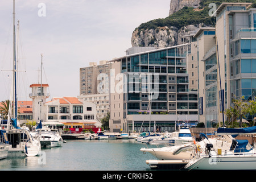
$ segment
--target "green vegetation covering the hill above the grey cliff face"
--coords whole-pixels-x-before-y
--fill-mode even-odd
[[[199,24],[204,23],[205,26],[214,26],[216,22],[215,17],[209,16],[209,10],[212,7],[209,7],[210,3],[216,3],[217,8],[221,5],[223,2],[252,2],[253,5],[251,7],[256,7],[256,0],[226,0],[226,1],[210,1],[210,0],[201,0],[199,9],[193,9],[193,7],[183,7],[183,9],[177,11],[176,13],[168,16],[167,18],[161,18],[161,19],[154,19],[150,20],[149,22],[142,23],[138,30],[139,32],[143,30],[150,30],[150,29],[156,29],[158,27],[176,27],[181,28],[184,26],[187,26],[189,24]]]

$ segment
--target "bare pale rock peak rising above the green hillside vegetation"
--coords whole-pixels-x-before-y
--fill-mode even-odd
[[[183,9],[184,6],[188,7],[199,7],[200,0],[171,0],[169,15],[176,13]]]

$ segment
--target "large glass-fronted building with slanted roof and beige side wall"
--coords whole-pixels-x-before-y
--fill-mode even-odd
[[[174,131],[184,122],[195,126],[197,89],[189,90],[190,51],[190,44],[183,44],[110,61],[110,131]]]

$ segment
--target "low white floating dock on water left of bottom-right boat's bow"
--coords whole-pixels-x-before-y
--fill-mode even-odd
[[[146,163],[154,169],[183,169],[188,160],[146,160]]]

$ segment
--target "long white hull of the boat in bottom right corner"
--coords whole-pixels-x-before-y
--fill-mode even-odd
[[[205,156],[185,167],[189,170],[256,170],[254,156]]]

